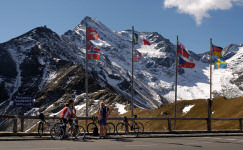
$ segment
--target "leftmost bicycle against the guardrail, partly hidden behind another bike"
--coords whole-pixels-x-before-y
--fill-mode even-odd
[[[55,118],[56,115],[54,115]],[[46,122],[45,115],[43,113],[40,113],[39,119],[41,120],[38,124],[38,135],[42,137],[44,131],[47,131],[47,128],[51,129],[53,127],[53,124],[55,122],[55,119],[53,118],[52,122]]]

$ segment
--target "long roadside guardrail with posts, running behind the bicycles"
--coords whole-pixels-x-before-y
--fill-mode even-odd
[[[1,118],[7,118],[7,119],[12,119],[13,120],[13,133],[17,133],[18,130],[18,119],[25,120],[25,119],[37,119],[39,120],[38,116],[18,116],[18,115],[0,115]],[[77,117],[79,120],[91,120],[91,117]],[[59,119],[59,117],[45,117],[46,120],[49,119]],[[108,120],[123,120],[123,117],[110,117]],[[172,130],[172,121],[175,120],[204,120],[207,122],[206,130],[207,132],[211,132],[211,121],[212,120],[226,120],[226,121],[239,121],[239,130],[242,132],[242,120],[243,118],[165,118],[165,117],[146,117],[146,118],[132,118],[128,117],[128,120],[165,120],[167,121],[168,125],[168,131],[169,132],[174,132],[175,130]],[[23,132],[24,129],[24,124],[21,123],[21,132]]]

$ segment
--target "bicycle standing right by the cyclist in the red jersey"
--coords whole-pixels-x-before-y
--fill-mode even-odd
[[[62,121],[62,120],[61,120]],[[85,129],[83,126],[78,125],[78,119],[73,119],[72,122],[69,122],[70,127],[67,132],[64,133],[65,125],[64,122],[56,123],[50,131],[51,137],[54,140],[62,140],[65,137],[70,138],[74,137],[75,139],[84,139],[85,138]]]

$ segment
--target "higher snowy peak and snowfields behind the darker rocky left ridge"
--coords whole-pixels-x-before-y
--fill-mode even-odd
[[[116,91],[129,96],[130,84],[126,84],[124,87],[124,82],[129,82],[131,78],[132,31],[114,32],[101,22],[86,17],[72,32],[69,31],[68,34],[65,34],[70,40],[75,41],[75,45],[84,47],[86,23],[96,29],[100,35],[100,39],[92,42],[92,44],[102,49],[100,63],[92,62],[94,65],[90,65],[91,70],[98,72],[97,79],[100,82],[108,83]],[[140,62],[135,63],[136,101],[139,101],[140,105],[142,103],[150,108],[158,104],[173,102],[175,45],[158,33],[138,31],[135,31],[135,33],[139,35],[140,39],[146,38],[151,42],[151,46],[139,44],[135,47],[143,55]],[[77,39],[77,35],[82,37],[81,40]],[[242,45],[231,44],[225,48],[223,59],[229,63],[229,67],[213,71],[213,92],[215,96],[234,97],[242,95],[238,84],[232,82],[234,71],[230,64],[231,59],[234,59],[232,56],[241,53],[240,47]],[[191,52],[191,59],[196,63],[196,67],[194,69],[179,69],[178,99],[209,98],[209,55],[207,54],[197,55]],[[238,62],[238,65],[242,62],[238,59],[235,61]],[[232,90],[237,92],[233,94]]]

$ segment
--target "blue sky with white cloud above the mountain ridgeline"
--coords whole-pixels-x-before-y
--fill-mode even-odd
[[[174,44],[178,34],[195,53],[208,51],[210,38],[221,47],[243,43],[242,0],[211,0],[215,3],[208,5],[195,1],[197,8],[191,11],[186,7],[190,0],[1,0],[0,43],[43,25],[63,34],[85,16],[115,31],[134,26],[137,31],[158,32]]]

